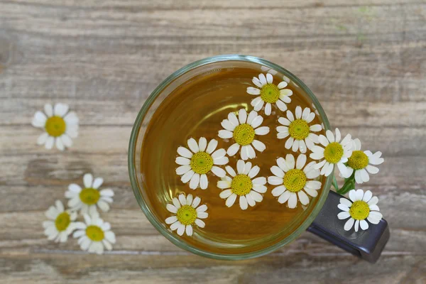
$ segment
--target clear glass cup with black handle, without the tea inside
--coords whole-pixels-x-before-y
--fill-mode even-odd
[[[154,89],[145,104],[143,104],[141,111],[139,111],[131,132],[129,143],[129,176],[131,186],[139,206],[151,224],[176,246],[209,258],[240,260],[263,256],[271,251],[280,249],[282,246],[285,246],[285,244],[289,244],[296,239],[297,236],[300,236],[303,231],[308,230],[356,256],[360,256],[370,262],[375,262],[388,241],[388,224],[386,220],[382,219],[379,224],[370,226],[367,231],[344,231],[343,227],[345,220],[337,219],[337,214],[339,213],[337,204],[339,204],[339,199],[342,198],[342,196],[330,191],[332,175],[324,178],[324,186],[320,191],[320,195],[315,197],[317,198],[317,202],[315,204],[310,204],[310,207],[308,207],[309,210],[306,210],[307,213],[305,216],[303,214],[301,215],[300,218],[303,219],[302,222],[299,222],[296,227],[291,228],[292,231],[286,234],[284,238],[280,238],[278,241],[272,242],[270,245],[262,247],[261,249],[258,249],[258,247],[253,244],[253,249],[249,250],[249,252],[214,253],[212,251],[197,248],[170,231],[168,226],[165,226],[163,220],[156,216],[152,204],[146,195],[146,189],[143,187],[143,175],[141,174],[142,142],[147,126],[155,110],[174,89],[184,84],[192,77],[227,67],[261,67],[261,70],[259,70],[260,72],[278,72],[282,74],[289,84],[299,88],[300,94],[307,97],[307,99],[312,102],[312,108],[316,109],[317,115],[320,116],[320,120],[324,124],[324,128],[326,130],[330,128],[329,121],[320,102],[318,102],[310,89],[301,80],[295,77],[295,75],[288,72],[288,70],[272,62],[245,55],[218,55],[212,58],[198,60],[190,65],[182,67]]]

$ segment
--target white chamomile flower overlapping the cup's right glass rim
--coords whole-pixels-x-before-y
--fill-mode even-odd
[[[334,137],[332,131],[327,130],[326,136],[318,136],[318,141],[324,146],[313,146],[310,154],[310,158],[314,160],[322,160],[320,163],[315,165],[315,168],[321,169],[321,175],[328,177],[333,169],[334,165],[337,165],[340,173],[346,175],[346,163],[348,158],[352,155],[352,141],[351,134],[346,135],[342,141],[340,141],[340,131],[336,129],[336,136]]]

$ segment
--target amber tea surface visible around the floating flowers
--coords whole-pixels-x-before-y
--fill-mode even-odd
[[[310,204],[306,207],[299,202],[297,208],[290,209],[271,194],[276,186],[267,184],[268,190],[263,194],[263,201],[243,211],[238,201],[234,206],[226,207],[225,200],[219,197],[222,190],[217,187],[217,181],[220,179],[211,172],[207,174],[209,185],[206,190],[200,187],[191,190],[189,184],[184,184],[175,172],[178,168],[175,163],[178,156],[176,150],[179,146],[187,147],[189,138],[197,141],[202,136],[207,141],[215,138],[219,142],[217,148],[224,149],[234,143],[232,138],[219,138],[218,131],[223,129],[221,121],[231,111],[241,108],[248,112],[253,110],[250,102],[254,96],[247,94],[246,89],[254,86],[251,81],[253,77],[267,71],[261,70],[260,66],[258,69],[227,68],[194,77],[180,85],[160,104],[148,124],[142,146],[141,175],[151,209],[158,219],[164,221],[173,215],[165,208],[173,197],[179,193],[200,197],[201,204],[208,206],[209,217],[204,219],[206,226],[194,226],[192,236],[182,236],[182,239],[200,249],[214,253],[244,253],[275,244],[297,229],[317,202],[318,197],[310,197]],[[274,83],[283,81],[283,75],[271,73],[275,73]],[[291,102],[287,104],[290,111],[294,113],[297,106],[302,109],[310,107],[311,111],[315,111],[312,102],[301,93],[301,89],[293,83],[287,88],[293,90]],[[263,116],[262,126],[269,126],[270,132],[258,138],[265,143],[266,150],[263,153],[256,151],[256,158],[249,161],[261,168],[257,177],[267,178],[273,175],[270,168],[276,165],[278,157],[285,157],[288,153],[297,157],[300,153],[287,150],[284,147],[285,139],[277,138],[275,128],[280,126],[278,119],[285,116],[283,111],[273,105],[271,116],[266,116],[263,109],[258,114]],[[313,122],[322,123],[318,116],[315,116]],[[324,131],[317,133],[324,134]],[[311,161],[309,154],[308,150],[307,163]],[[240,155],[236,153],[229,157],[228,165],[236,169],[239,159]],[[319,180],[322,181],[322,177]]]

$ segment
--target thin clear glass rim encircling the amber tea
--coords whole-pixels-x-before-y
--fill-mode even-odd
[[[322,189],[322,192],[320,196],[318,197],[317,204],[315,204],[315,207],[312,209],[311,214],[300,224],[300,226],[297,227],[293,232],[291,232],[288,236],[286,236],[281,241],[278,241],[277,243],[268,246],[264,249],[246,252],[246,253],[232,253],[232,254],[225,254],[225,253],[212,253],[209,251],[204,251],[202,249],[197,249],[197,247],[192,246],[191,244],[187,244],[187,242],[180,239],[180,237],[176,236],[175,234],[170,233],[168,231],[168,228],[166,228],[163,223],[158,222],[158,220],[154,217],[153,213],[151,212],[151,209],[148,208],[145,200],[143,200],[143,197],[141,195],[141,192],[139,191],[139,187],[142,185],[139,185],[137,180],[136,173],[136,167],[135,167],[135,155],[136,155],[136,142],[138,138],[139,129],[141,128],[141,124],[143,121],[143,118],[145,117],[149,107],[151,107],[152,102],[158,97],[158,95],[163,92],[163,89],[170,84],[170,82],[173,82],[176,78],[180,77],[181,75],[185,74],[186,72],[195,69],[197,67],[200,67],[202,65],[207,65],[209,63],[213,62],[223,62],[223,61],[242,61],[242,62],[252,62],[257,63],[259,65],[266,66],[268,68],[271,68],[273,70],[276,70],[286,77],[288,77],[291,81],[295,82],[298,87],[303,89],[303,91],[306,92],[306,94],[310,97],[310,100],[313,104],[315,104],[315,108],[320,114],[320,117],[322,119],[322,122],[324,123],[325,130],[329,130],[329,121],[327,119],[327,115],[324,112],[324,109],[322,109],[322,106],[320,102],[318,102],[317,97],[312,93],[312,91],[306,86],[305,83],[303,83],[299,78],[297,78],[295,75],[293,75],[291,72],[286,70],[283,67],[280,67],[279,65],[276,65],[273,62],[270,62],[268,60],[264,60],[262,58],[257,58],[250,55],[217,55],[212,56],[209,58],[204,58],[201,60],[197,60],[195,62],[192,62],[185,67],[180,68],[179,70],[173,72],[172,75],[168,76],[163,82],[161,82],[158,87],[156,87],[153,92],[151,92],[148,99],[146,99],[146,102],[144,102],[143,106],[141,107],[141,110],[138,113],[138,116],[136,117],[136,121],[133,124],[133,128],[131,131],[130,141],[129,141],[129,156],[128,156],[128,168],[129,168],[129,178],[131,182],[131,187],[133,189],[133,194],[136,197],[136,200],[139,204],[139,207],[141,207],[142,212],[145,214],[149,222],[153,224],[155,229],[157,229],[160,234],[165,236],[166,239],[171,241],[175,246],[180,247],[181,249],[185,249],[186,251],[190,251],[191,253],[195,253],[199,256],[204,256],[207,258],[214,258],[219,260],[243,260],[243,259],[249,259],[249,258],[256,258],[258,256],[264,256],[268,253],[271,253],[272,251],[275,251],[277,249],[280,249],[281,247],[285,246],[285,244],[290,243],[291,241],[295,240],[300,234],[302,234],[303,231],[305,231],[308,226],[314,221],[315,217],[317,217],[317,214],[320,213],[320,210],[322,209],[322,206],[324,205],[325,200],[327,199],[327,195],[329,192],[329,189],[332,185],[332,175],[329,175],[325,179],[325,185]]]

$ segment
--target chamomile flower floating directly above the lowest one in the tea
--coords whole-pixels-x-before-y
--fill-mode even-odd
[[[182,175],[180,180],[183,183],[190,182],[192,190],[199,186],[205,190],[209,185],[207,173],[211,171],[219,178],[224,177],[225,171],[217,165],[226,165],[229,160],[228,157],[225,157],[225,149],[216,150],[217,140],[212,139],[207,145],[207,139],[204,137],[201,137],[198,143],[194,138],[190,138],[187,144],[190,150],[180,146],[178,148],[179,156],[176,158],[176,163],[180,165],[176,169],[176,173]]]

